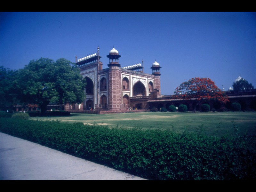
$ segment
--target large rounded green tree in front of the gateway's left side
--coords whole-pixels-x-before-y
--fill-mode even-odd
[[[50,102],[81,103],[85,99],[85,79],[80,69],[66,59],[31,60],[16,78],[18,98],[27,104],[37,104],[41,113]]]

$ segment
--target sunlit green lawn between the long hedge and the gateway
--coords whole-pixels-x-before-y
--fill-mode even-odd
[[[207,135],[233,135],[236,124],[240,133],[256,135],[255,112],[141,112],[122,114],[77,114],[65,117],[31,117],[36,120],[60,120],[61,122],[82,122],[84,124],[121,126],[124,128],[168,128],[177,132],[189,132],[204,128]]]

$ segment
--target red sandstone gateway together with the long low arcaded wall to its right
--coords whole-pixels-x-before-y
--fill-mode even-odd
[[[121,67],[119,64],[121,55],[113,48],[107,55],[108,68],[103,69],[99,49],[98,47],[97,53],[87,57],[78,60],[76,57],[76,64],[81,70],[81,75],[87,81],[86,99],[83,103],[67,104],[65,110],[85,113],[120,113],[127,112],[130,108],[138,111],[151,108],[160,110],[162,107],[168,109],[170,105],[178,107],[180,104],[187,105],[188,110],[194,109],[195,99],[177,100],[173,95],[161,95],[161,67],[156,61],[151,67],[152,74],[143,72],[143,60],[142,64]],[[229,109],[231,103],[239,102],[242,110],[256,110],[255,89],[246,93],[227,91],[226,94],[230,102],[223,104],[209,101],[211,109]],[[201,109],[201,104],[196,110]]]

